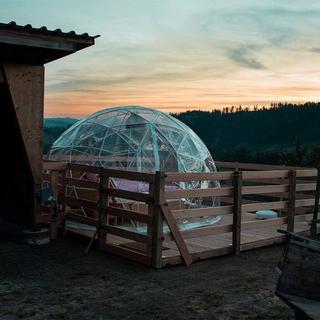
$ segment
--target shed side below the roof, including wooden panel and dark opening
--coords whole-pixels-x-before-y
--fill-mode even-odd
[[[38,212],[42,172],[44,68],[4,64],[0,82],[0,216],[32,224]]]

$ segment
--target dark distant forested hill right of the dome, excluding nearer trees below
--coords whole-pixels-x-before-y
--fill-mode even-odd
[[[249,111],[187,111],[172,114],[190,126],[218,157],[236,150],[271,152],[320,143],[320,103],[273,104],[271,108]]]

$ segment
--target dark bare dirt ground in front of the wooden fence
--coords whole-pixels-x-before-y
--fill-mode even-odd
[[[0,319],[293,319],[275,295],[282,246],[153,270],[76,239],[0,239]]]

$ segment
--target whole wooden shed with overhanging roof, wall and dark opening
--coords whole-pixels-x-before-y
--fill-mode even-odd
[[[0,23],[0,218],[32,225],[39,211],[44,65],[92,46],[96,37]]]

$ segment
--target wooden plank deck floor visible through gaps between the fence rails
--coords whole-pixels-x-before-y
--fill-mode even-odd
[[[310,226],[311,215],[297,216],[295,218],[295,233],[307,234]],[[242,214],[242,222],[256,221],[255,215],[250,213]],[[232,215],[224,215],[219,225],[228,225],[232,223]],[[269,246],[284,242],[286,237],[277,230],[286,230],[287,224],[275,226],[262,226],[251,230],[242,230],[241,232],[241,251],[251,250],[259,247]],[[88,238],[93,236],[94,230],[71,230]],[[318,227],[320,232],[320,226]],[[108,234],[108,242],[114,245],[125,247],[142,253],[146,251],[141,244],[124,239],[115,235]],[[185,239],[188,250],[194,261],[208,259],[216,256],[226,255],[233,252],[232,233],[223,233],[218,235],[197,237]],[[183,263],[179,250],[174,241],[164,241],[163,243],[163,266],[170,266]]]

